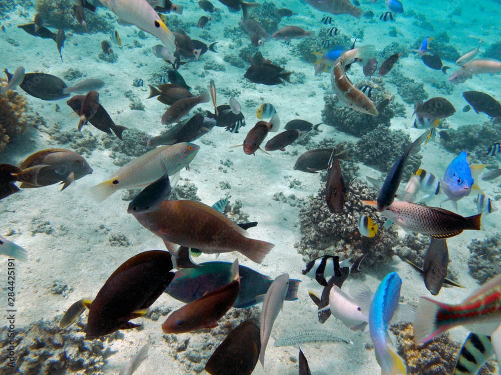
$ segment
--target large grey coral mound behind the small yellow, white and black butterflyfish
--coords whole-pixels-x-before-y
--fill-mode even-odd
[[[382,228],[384,219],[374,210],[362,204],[362,199],[374,199],[377,191],[359,180],[353,181],[349,189],[350,201],[345,203],[346,213],[332,214],[325,201],[311,199],[301,208],[299,222],[301,240],[295,244],[305,261],[310,261],[324,254],[339,255],[341,259],[367,255],[364,263],[374,266],[387,262],[393,247],[398,243],[394,229]],[[324,197],[323,189],[319,197]],[[371,216],[379,222],[380,230],[373,238],[364,237],[357,230],[360,214]]]

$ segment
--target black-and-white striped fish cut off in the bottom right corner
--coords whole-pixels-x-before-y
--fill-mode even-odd
[[[452,375],[476,375],[492,354],[494,351],[489,336],[468,334],[457,356]]]

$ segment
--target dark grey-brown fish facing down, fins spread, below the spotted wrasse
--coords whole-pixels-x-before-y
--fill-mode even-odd
[[[449,251],[444,238],[431,238],[426,255],[424,256],[423,267],[419,267],[409,259],[404,260],[412,265],[418,272],[422,273],[424,286],[431,294],[437,295],[443,283],[448,285],[463,287],[460,284],[446,278],[447,266],[449,265]]]

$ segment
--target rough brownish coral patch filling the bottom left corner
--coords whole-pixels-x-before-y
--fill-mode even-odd
[[[40,320],[29,326],[16,326],[14,346],[18,372],[26,375],[53,375],[67,371],[104,374],[103,366],[112,352],[101,338],[85,340],[84,326],[85,323],[80,319],[66,329],[61,329],[56,321],[49,320]],[[12,339],[8,336],[8,329],[2,329],[2,352],[8,353]]]

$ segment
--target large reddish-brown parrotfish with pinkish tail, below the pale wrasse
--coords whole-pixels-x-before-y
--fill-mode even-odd
[[[246,232],[216,209],[193,200],[164,200],[158,210],[134,214],[146,229],[163,239],[169,251],[178,254],[174,243],[198,248],[207,254],[238,251],[261,263],[274,244],[246,237]],[[176,259],[178,261],[178,259]]]

